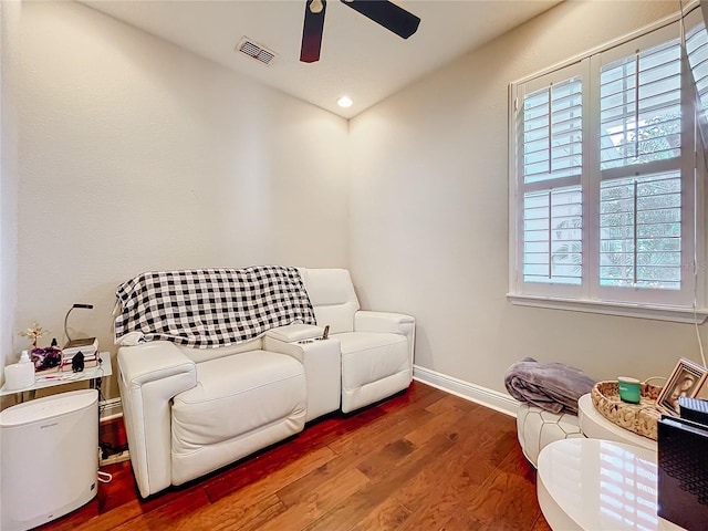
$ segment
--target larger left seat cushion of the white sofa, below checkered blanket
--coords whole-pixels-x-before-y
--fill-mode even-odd
[[[284,418],[304,425],[303,365],[268,351],[251,351],[197,364],[197,386],[175,396],[173,452],[247,434]]]

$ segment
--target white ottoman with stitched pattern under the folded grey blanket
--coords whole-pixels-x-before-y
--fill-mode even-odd
[[[555,440],[585,438],[576,415],[551,413],[529,404],[517,409],[517,435],[523,455],[537,467],[539,452]]]

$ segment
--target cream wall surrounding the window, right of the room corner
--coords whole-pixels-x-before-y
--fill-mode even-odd
[[[667,376],[678,356],[698,360],[690,325],[504,296],[509,83],[676,9],[564,2],[351,121],[350,268],[365,306],[417,317],[418,365],[504,391],[524,356],[598,379]]]

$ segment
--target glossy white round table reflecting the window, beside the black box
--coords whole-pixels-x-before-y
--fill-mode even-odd
[[[600,439],[551,442],[539,455],[539,504],[551,529],[681,530],[658,517],[656,451]]]

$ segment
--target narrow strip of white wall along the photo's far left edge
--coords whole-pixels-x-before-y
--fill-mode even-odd
[[[12,352],[15,323],[21,12],[20,2],[0,2],[0,367]]]

